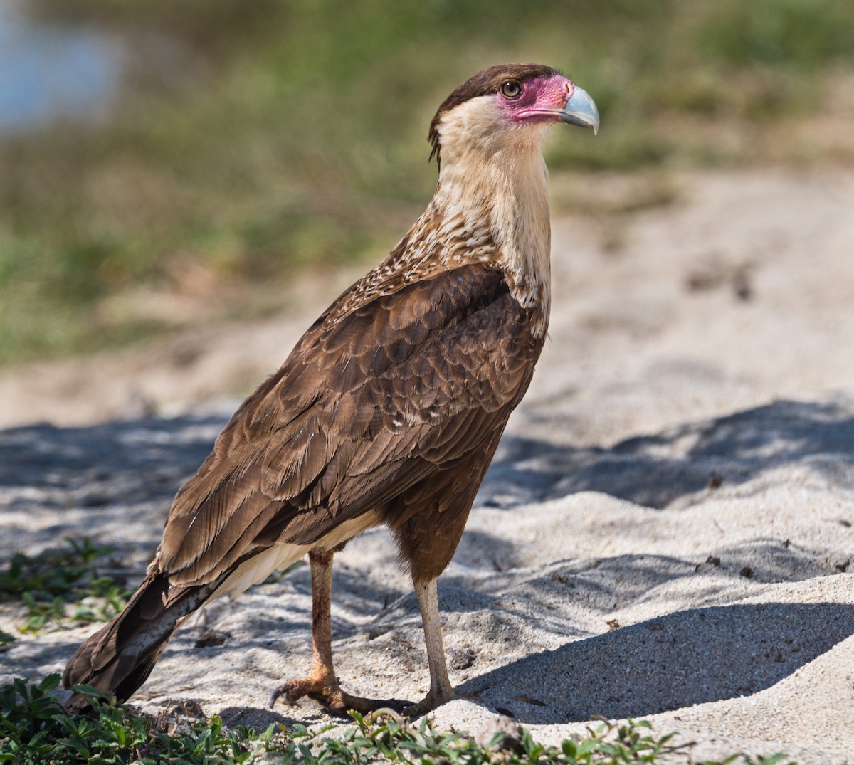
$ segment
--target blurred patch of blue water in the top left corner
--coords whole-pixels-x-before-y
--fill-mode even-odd
[[[89,26],[32,21],[20,3],[0,0],[0,131],[102,114],[119,85],[121,55],[116,38]]]

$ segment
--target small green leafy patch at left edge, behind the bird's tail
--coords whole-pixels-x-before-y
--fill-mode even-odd
[[[38,634],[49,625],[106,622],[125,607],[131,592],[112,576],[97,571],[96,560],[109,552],[90,539],[67,538],[68,546],[36,556],[16,552],[0,571],[0,598],[18,599],[25,606],[22,633]],[[77,603],[69,615],[67,604]],[[14,637],[0,631],[0,643]]]

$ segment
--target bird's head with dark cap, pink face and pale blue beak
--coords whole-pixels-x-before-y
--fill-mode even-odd
[[[542,128],[555,122],[599,130],[593,99],[570,79],[541,64],[488,67],[447,96],[430,123],[436,161],[465,149],[494,155],[510,146],[539,147]]]

